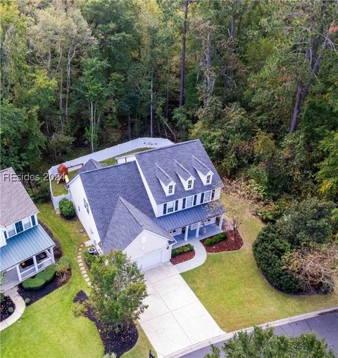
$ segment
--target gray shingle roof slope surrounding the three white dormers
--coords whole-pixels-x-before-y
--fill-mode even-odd
[[[161,183],[156,176],[156,164],[161,166],[165,173],[167,173],[177,184],[175,186],[175,194],[170,196],[170,200],[184,198],[206,191],[206,189],[211,190],[223,186],[218,172],[215,170],[208,153],[206,153],[206,150],[199,139],[177,143],[173,146],[156,148],[151,151],[135,153],[135,157],[158,205],[168,202],[168,197],[165,196]],[[177,165],[175,164],[175,160],[179,160],[185,170],[196,178],[194,181],[194,188],[189,190],[189,193],[185,191],[184,186],[177,175]],[[209,172],[209,170],[214,173],[210,185],[204,186],[199,174],[196,172],[196,167],[198,167],[199,170],[201,169],[201,171],[203,170],[203,173]]]

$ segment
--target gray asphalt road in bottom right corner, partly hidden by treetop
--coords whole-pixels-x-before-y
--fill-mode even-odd
[[[313,331],[317,333],[318,337],[325,338],[327,344],[332,347],[338,357],[338,311],[275,327],[275,333],[289,336],[300,335],[308,331]],[[220,347],[224,342],[223,340],[216,345]],[[192,353],[184,354],[181,358],[202,358],[208,352],[210,352],[209,347],[204,347]]]

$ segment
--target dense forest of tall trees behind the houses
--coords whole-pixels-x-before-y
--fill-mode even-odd
[[[265,219],[336,201],[337,15],[337,1],[1,1],[1,167],[199,138]]]

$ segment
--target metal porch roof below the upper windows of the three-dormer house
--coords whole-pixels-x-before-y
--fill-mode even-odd
[[[166,230],[179,229],[182,226],[201,222],[225,213],[225,208],[219,200],[210,203],[190,207],[189,209],[180,210],[173,214],[163,215],[154,219],[159,225]]]

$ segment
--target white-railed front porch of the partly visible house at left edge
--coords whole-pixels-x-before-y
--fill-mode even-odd
[[[15,264],[14,267],[3,272],[4,278],[1,280],[0,292],[18,286],[20,282],[35,276],[39,271],[43,271],[47,266],[54,263],[54,251],[53,248],[49,248],[23,262]]]

